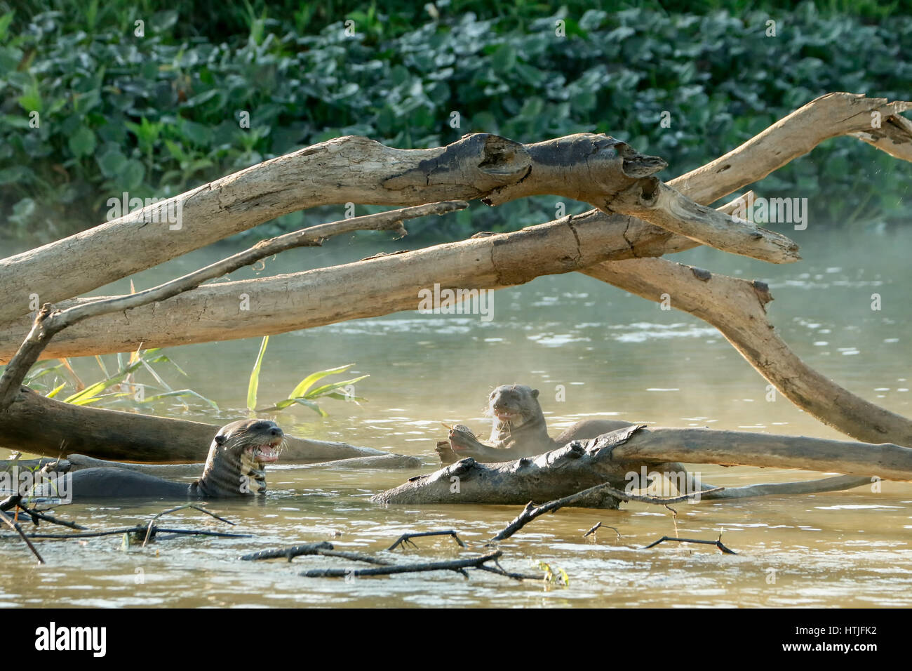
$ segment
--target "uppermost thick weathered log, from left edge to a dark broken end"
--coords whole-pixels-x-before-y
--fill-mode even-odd
[[[0,286],[7,299],[0,305],[0,323],[26,314],[30,294],[42,303],[77,296],[316,205],[418,205],[495,192],[499,202],[533,194],[604,200],[665,165],[625,142],[591,133],[528,145],[473,133],[422,150],[393,149],[357,136],[338,138],[5,259]],[[179,224],[162,214],[178,211]]]

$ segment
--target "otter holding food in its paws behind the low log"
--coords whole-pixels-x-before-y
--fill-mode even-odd
[[[503,384],[488,398],[486,414],[493,418],[491,437],[485,445],[465,426],[454,426],[447,441],[437,444],[440,461],[451,463],[467,456],[476,461],[512,461],[521,456],[540,455],[574,440],[588,440],[632,423],[619,420],[587,419],[552,438],[544,422],[538,390],[523,384]],[[510,450],[505,452],[504,450]]]

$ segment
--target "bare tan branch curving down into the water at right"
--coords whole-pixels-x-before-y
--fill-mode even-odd
[[[825,425],[866,443],[912,446],[912,421],[849,392],[789,349],[766,318],[772,296],[762,282],[664,258],[599,264],[587,268],[586,275],[656,302],[668,294],[673,308],[720,330],[757,372]]]

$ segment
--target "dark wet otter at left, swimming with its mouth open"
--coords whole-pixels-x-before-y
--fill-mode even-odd
[[[219,429],[209,446],[202,477],[191,484],[173,482],[117,467],[78,470],[66,487],[74,500],[89,498],[227,498],[263,494],[264,466],[278,460],[285,434],[267,420],[232,422]],[[64,493],[63,486],[58,487]]]

